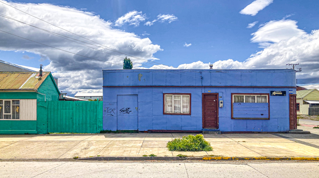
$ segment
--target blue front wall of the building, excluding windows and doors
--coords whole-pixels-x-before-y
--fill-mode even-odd
[[[103,129],[117,130],[117,95],[137,95],[138,130],[202,130],[202,93],[211,91],[224,101],[220,131],[284,132],[289,130],[289,90],[295,94],[295,86],[290,69],[103,70]],[[231,93],[278,90],[287,96],[270,96],[270,120],[231,119]],[[191,93],[191,115],[163,115],[163,93]]]

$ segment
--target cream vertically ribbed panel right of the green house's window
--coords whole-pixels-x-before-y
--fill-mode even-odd
[[[37,99],[20,99],[20,120],[37,120]]]

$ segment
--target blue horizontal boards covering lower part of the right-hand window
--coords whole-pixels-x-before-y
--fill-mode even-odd
[[[268,103],[234,103],[234,118],[268,118]]]

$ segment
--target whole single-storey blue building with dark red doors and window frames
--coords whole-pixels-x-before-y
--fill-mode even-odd
[[[295,70],[103,70],[103,130],[287,132]]]

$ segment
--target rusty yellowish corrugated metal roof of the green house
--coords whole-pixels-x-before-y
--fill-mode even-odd
[[[42,77],[36,78],[39,72],[0,72],[0,90],[38,89],[50,72],[42,72]]]

